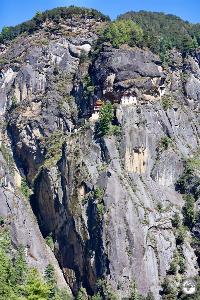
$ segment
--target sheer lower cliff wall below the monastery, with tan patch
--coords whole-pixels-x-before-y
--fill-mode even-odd
[[[181,136],[173,131],[174,115],[160,107],[161,126],[155,104],[141,105],[140,115],[135,105],[117,111],[122,128],[118,150],[113,136],[98,142],[93,126],[82,128],[67,138],[58,169],[44,168],[40,173],[35,193],[42,227],[46,233],[55,232],[55,253],[73,291],[81,283],[94,289],[97,278],[104,276],[112,289],[120,280],[121,296],[125,296],[136,272],[139,292],[145,294],[154,284],[152,290],[158,297],[159,278],[169,270],[176,251],[171,218],[176,211],[180,213],[184,201],[174,189],[183,171],[177,148],[169,146],[160,153],[153,172],[155,181],[150,177],[156,140],[169,133],[173,140]],[[144,116],[147,123],[142,122]],[[196,147],[195,138],[190,142]],[[181,145],[187,153],[184,142]],[[97,212],[100,203],[93,196],[97,185],[102,191],[102,220]],[[158,202],[163,211],[157,210]],[[186,257],[184,251],[189,251],[195,261],[193,249],[187,249],[183,247],[182,255]],[[72,280],[76,268],[79,277]],[[194,274],[191,260],[187,276]]]

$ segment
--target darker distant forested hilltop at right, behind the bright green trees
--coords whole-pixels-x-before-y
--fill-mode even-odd
[[[153,52],[164,53],[166,49],[176,47],[181,50],[190,49],[192,39],[195,36],[199,43],[200,23],[192,24],[182,20],[180,17],[163,12],[149,12],[140,10],[135,12],[131,10],[117,17],[118,20],[135,22],[142,30],[148,33],[148,37],[154,39]],[[193,48],[193,47],[192,47]],[[186,49],[185,53],[188,52]]]

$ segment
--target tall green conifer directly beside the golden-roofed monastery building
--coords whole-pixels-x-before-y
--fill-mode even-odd
[[[111,122],[114,118],[112,105],[109,100],[106,104],[100,107],[99,111],[99,123],[97,124],[97,134],[104,136],[109,133]]]

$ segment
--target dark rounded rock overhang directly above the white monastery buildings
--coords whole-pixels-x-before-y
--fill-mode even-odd
[[[112,49],[104,44],[103,50],[92,70],[99,98],[113,100],[127,90],[141,98],[158,97],[160,82],[166,78],[160,58],[141,49]]]

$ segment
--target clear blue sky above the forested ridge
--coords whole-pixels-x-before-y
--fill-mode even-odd
[[[200,22],[200,0],[0,0],[0,32],[3,26],[15,26],[32,19],[36,11],[70,5],[100,10],[113,20],[130,10],[163,11],[184,21]]]

